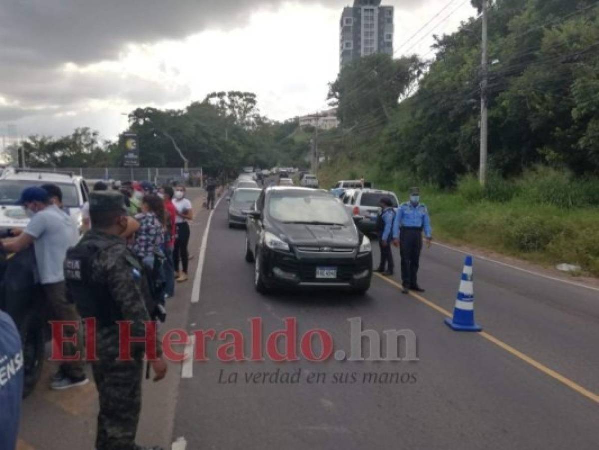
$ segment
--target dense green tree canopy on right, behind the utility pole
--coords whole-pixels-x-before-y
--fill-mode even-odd
[[[480,5],[473,1],[473,6]],[[485,93],[492,171],[515,176],[544,164],[577,176],[599,173],[598,11],[592,0],[489,2]],[[353,125],[370,111],[391,116],[380,120],[377,129],[358,128],[344,142],[356,146],[357,140],[370,160],[404,168],[440,186],[452,185],[461,174],[476,173],[481,27],[480,17],[473,17],[455,33],[435,37],[437,55],[428,62],[413,95],[399,89],[409,84],[394,84],[394,71],[386,69],[380,79],[368,74],[379,73],[383,64],[398,67],[402,61],[399,67],[409,68],[404,73],[419,74],[415,59],[409,64],[398,59],[391,65],[383,58],[363,58],[344,68],[331,85],[344,125]],[[376,84],[384,97],[377,96]],[[394,101],[397,98],[401,101]],[[340,141],[334,144],[338,147]]]

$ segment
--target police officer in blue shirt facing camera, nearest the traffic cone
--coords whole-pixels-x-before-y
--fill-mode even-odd
[[[393,239],[395,246],[400,246],[401,280],[403,289],[424,292],[418,285],[418,268],[420,267],[420,250],[422,249],[422,232],[426,244],[431,247],[431,220],[426,206],[420,203],[420,189],[410,189],[410,201],[402,204],[395,215]]]

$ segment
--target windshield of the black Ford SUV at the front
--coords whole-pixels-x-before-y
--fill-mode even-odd
[[[281,222],[350,223],[343,206],[322,192],[274,192],[268,202],[268,214]]]

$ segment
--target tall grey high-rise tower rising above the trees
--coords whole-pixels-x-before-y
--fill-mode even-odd
[[[344,65],[373,53],[393,55],[392,6],[381,0],[354,0],[353,7],[343,8],[339,37],[339,63]]]

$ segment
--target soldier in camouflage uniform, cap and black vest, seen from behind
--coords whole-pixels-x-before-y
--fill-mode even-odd
[[[145,336],[145,324],[150,321],[146,280],[140,263],[120,237],[128,220],[123,195],[93,192],[89,213],[92,229],[69,249],[65,277],[81,317],[96,319],[96,360],[92,363],[99,397],[96,449],[140,450],[135,432],[141,409],[143,355],[150,349],[144,342],[132,343],[131,360],[119,360],[116,321],[131,321],[131,336]],[[154,380],[164,378],[167,366],[159,342],[151,364]]]

